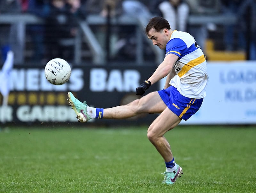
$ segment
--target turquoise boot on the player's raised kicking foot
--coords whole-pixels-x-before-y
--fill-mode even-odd
[[[79,122],[83,123],[92,119],[87,112],[87,108],[90,107],[86,104],[86,101],[82,103],[71,92],[68,92],[67,100],[69,101],[69,106],[72,106],[72,109],[76,112],[76,118]]]

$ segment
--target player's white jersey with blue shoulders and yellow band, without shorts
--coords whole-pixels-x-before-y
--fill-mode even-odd
[[[168,54],[179,57],[173,66],[177,75],[171,79],[170,84],[183,96],[197,99],[205,97],[208,83],[207,63],[194,37],[186,32],[173,31],[166,44],[165,56]]]

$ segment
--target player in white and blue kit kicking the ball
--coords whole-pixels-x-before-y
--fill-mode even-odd
[[[150,19],[145,32],[154,45],[166,50],[166,54],[156,71],[136,89],[136,95],[143,95],[150,85],[166,77],[163,90],[151,92],[129,104],[106,109],[92,108],[76,99],[71,92],[68,92],[68,100],[79,122],[92,118],[125,119],[140,113],[161,113],[149,126],[147,135],[165,161],[163,183],[173,184],[183,170],[176,164],[164,134],[182,119],[188,120],[200,108],[206,96],[207,63],[194,37],[172,30],[166,19]]]

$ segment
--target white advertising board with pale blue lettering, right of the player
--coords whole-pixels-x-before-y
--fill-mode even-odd
[[[256,124],[256,61],[208,62],[207,70],[207,96],[181,124]]]

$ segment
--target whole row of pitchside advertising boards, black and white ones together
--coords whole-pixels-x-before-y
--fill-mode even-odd
[[[44,67],[15,66],[9,80],[8,106],[0,108],[0,121],[11,124],[75,123],[68,106],[72,91],[90,106],[107,108],[127,104],[140,83],[156,66],[73,66],[70,80],[55,86],[44,77]],[[256,124],[255,62],[209,62],[207,96],[200,110],[181,124]],[[163,88],[164,79],[148,92]],[[2,102],[3,97],[0,97]],[[91,120],[100,124],[150,124],[157,114],[144,114],[126,120]],[[84,126],[84,125],[83,125]]]

